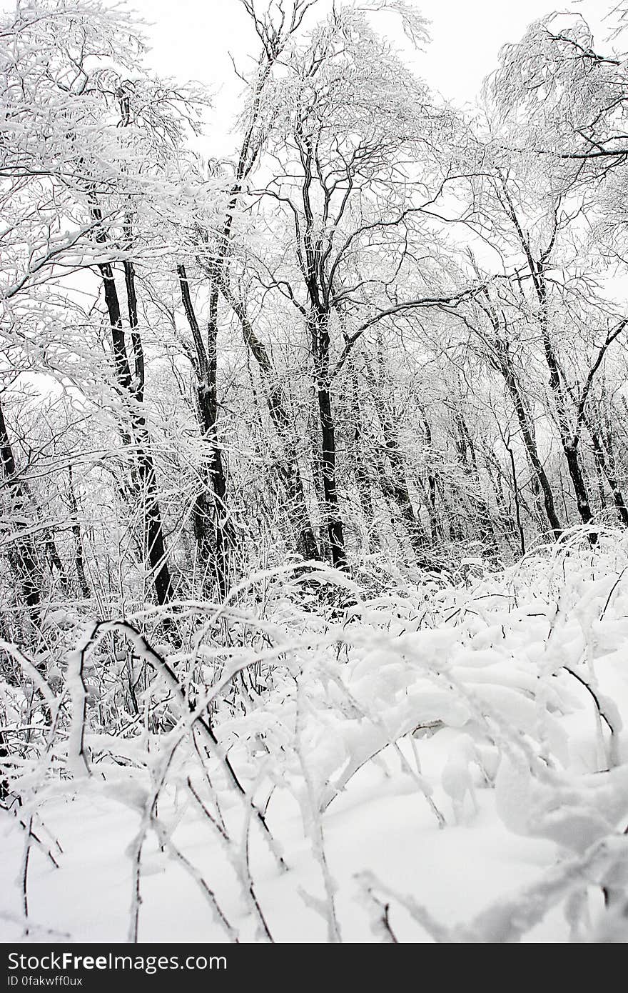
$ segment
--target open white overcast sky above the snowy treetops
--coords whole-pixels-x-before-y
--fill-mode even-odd
[[[432,44],[413,59],[416,71],[443,96],[456,104],[472,102],[482,79],[497,65],[499,49],[516,42],[531,21],[554,10],[581,13],[596,31],[598,46],[608,33],[601,19],[612,0],[411,0],[432,22]],[[259,6],[264,0],[257,0]],[[239,0],[130,0],[145,20],[152,51],[149,65],[179,80],[197,79],[215,94],[214,138],[225,147],[234,97],[240,89],[228,53],[246,66],[247,55],[257,52],[256,37]],[[324,8],[321,0],[320,8]],[[314,11],[308,16],[314,23]],[[381,18],[381,31],[403,42],[390,15]],[[375,20],[374,25],[377,25]],[[210,121],[212,116],[210,116]],[[226,145],[229,145],[226,140]],[[214,148],[212,151],[216,151]]]

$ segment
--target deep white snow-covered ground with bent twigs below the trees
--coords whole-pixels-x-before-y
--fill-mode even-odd
[[[195,709],[171,683],[161,734],[102,733],[115,686],[94,636],[87,768],[69,657],[57,730],[22,751],[22,805],[0,810],[2,940],[627,940],[626,538],[356,588],[326,621],[295,589],[168,659]]]

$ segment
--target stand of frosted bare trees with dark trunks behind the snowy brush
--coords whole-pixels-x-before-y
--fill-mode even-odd
[[[623,10],[599,48],[532,25],[470,116],[375,9],[242,2],[227,159],[119,10],[3,16],[7,640],[282,563],[378,583],[628,525]]]

